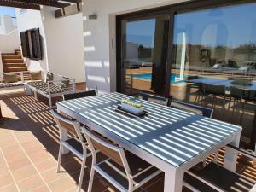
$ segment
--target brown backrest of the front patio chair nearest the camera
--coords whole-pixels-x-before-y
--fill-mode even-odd
[[[102,154],[105,154],[111,160],[119,164],[119,166],[124,167],[126,173],[130,173],[130,168],[127,163],[123,148],[114,145],[113,143],[109,143],[108,141],[96,136],[95,133],[89,131],[85,127],[82,127],[82,131],[84,132],[84,136],[86,137],[92,154],[95,154],[97,149],[101,151]]]

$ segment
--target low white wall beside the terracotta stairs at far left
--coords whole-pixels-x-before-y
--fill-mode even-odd
[[[0,52],[13,53],[15,49],[19,48],[20,38],[17,29],[8,34],[0,34]]]

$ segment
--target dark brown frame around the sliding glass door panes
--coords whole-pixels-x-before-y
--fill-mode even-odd
[[[169,97],[170,96],[170,76],[171,76],[171,67],[172,63],[175,60],[175,54],[173,54],[173,30],[174,30],[174,17],[175,15],[179,13],[185,13],[190,12],[194,10],[200,10],[200,9],[211,9],[211,8],[218,8],[228,5],[236,5],[236,4],[242,4],[242,3],[255,3],[256,0],[239,0],[234,2],[234,0],[195,0],[192,2],[185,2],[185,3],[177,3],[172,4],[170,6],[164,6],[157,9],[147,9],[137,12],[132,12],[125,15],[117,15],[116,16],[116,87],[117,91],[121,92],[122,90],[122,81],[124,79],[121,79],[122,75],[122,28],[121,28],[121,22],[122,20],[134,20],[139,18],[146,18],[154,15],[160,15],[160,14],[169,14],[170,15],[170,25],[169,25],[169,45],[168,45],[168,55],[167,55],[167,61],[166,61],[166,90],[164,96]],[[254,117],[253,121],[253,131],[252,131],[252,137],[251,137],[251,144],[249,146],[246,146],[248,148],[254,148],[256,142],[256,115]],[[255,148],[256,149],[256,148]]]

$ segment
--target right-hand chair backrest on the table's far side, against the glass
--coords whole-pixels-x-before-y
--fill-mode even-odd
[[[173,99],[171,102],[171,107],[181,109],[181,110],[191,112],[191,113],[200,114],[207,118],[212,118],[212,114],[213,114],[212,108],[204,108],[201,106],[193,105],[191,103],[180,102],[180,101],[173,100]]]

